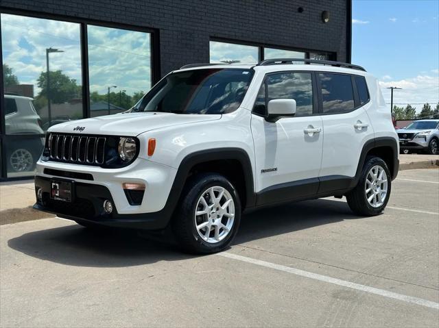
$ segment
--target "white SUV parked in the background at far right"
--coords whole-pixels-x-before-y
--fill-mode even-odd
[[[439,154],[439,120],[414,121],[396,132],[401,153],[427,151],[431,155]]]

